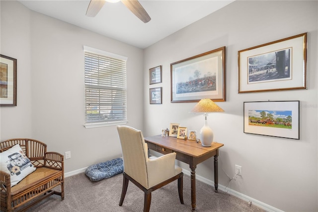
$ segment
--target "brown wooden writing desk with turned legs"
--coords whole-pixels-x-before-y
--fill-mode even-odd
[[[222,143],[212,143],[212,146],[202,146],[193,140],[182,140],[176,137],[161,137],[161,135],[145,137],[145,142],[148,143],[148,148],[168,154],[176,153],[176,159],[189,164],[191,169],[191,205],[192,210],[196,207],[195,197],[195,169],[197,164],[214,156],[214,187],[218,191],[218,156],[219,148],[224,146]]]

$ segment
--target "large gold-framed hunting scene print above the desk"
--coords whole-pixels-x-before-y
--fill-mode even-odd
[[[171,103],[225,101],[225,46],[170,64]]]

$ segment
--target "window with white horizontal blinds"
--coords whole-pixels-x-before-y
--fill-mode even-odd
[[[84,46],[86,128],[127,123],[127,58]]]

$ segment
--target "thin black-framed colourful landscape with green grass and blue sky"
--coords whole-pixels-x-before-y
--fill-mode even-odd
[[[244,102],[244,133],[299,140],[299,103]]]

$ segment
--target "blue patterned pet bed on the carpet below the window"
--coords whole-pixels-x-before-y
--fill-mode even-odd
[[[112,159],[103,163],[93,164],[87,167],[85,175],[91,181],[99,181],[110,178],[124,171],[124,163],[122,158]]]

